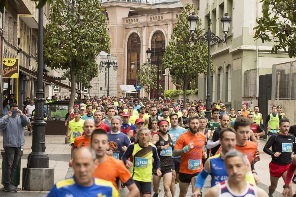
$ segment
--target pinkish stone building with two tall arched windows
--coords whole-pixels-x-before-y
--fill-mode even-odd
[[[149,3],[116,0],[103,1],[102,6],[106,10],[111,38],[110,53],[118,58],[117,89],[120,92],[119,85],[135,86],[138,83],[136,70],[147,61],[148,48],[152,50],[151,60],[158,57],[162,59],[165,46],[170,40],[183,5],[179,0],[160,0]],[[131,62],[135,62],[133,70]],[[175,89],[175,86],[168,81],[168,76],[165,76],[168,72],[161,64],[159,70],[161,75],[159,84],[162,87],[159,95],[163,95],[164,90]],[[143,89],[138,91],[137,95],[148,96]],[[156,97],[156,91],[149,96]]]

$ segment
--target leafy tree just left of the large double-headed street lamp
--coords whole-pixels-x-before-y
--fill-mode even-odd
[[[188,82],[198,78],[199,73],[207,73],[207,44],[200,40],[194,42],[189,29],[188,17],[192,12],[197,13],[192,4],[186,4],[178,18],[177,25],[165,48],[163,66],[168,69],[172,80],[183,84],[183,98],[186,100]],[[201,21],[197,23],[195,38],[202,35]],[[212,60],[211,67],[213,70]]]

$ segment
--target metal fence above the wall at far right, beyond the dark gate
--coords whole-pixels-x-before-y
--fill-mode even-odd
[[[296,61],[274,64],[272,77],[275,100],[296,100]]]

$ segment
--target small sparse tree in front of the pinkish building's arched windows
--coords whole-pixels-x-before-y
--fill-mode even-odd
[[[161,77],[160,77],[161,79]],[[152,89],[157,88],[157,66],[154,64],[143,64],[137,70],[139,86],[147,92],[148,97]],[[161,89],[161,87],[159,87]]]

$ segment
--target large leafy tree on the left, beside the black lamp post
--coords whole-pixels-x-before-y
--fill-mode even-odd
[[[97,72],[95,60],[101,51],[109,51],[110,38],[101,1],[64,0],[64,3],[62,6],[55,1],[51,6],[50,23],[44,29],[44,63],[70,73],[71,84],[75,84],[80,73],[91,80],[89,72],[92,69]],[[73,108],[74,97],[72,85],[69,108]]]

